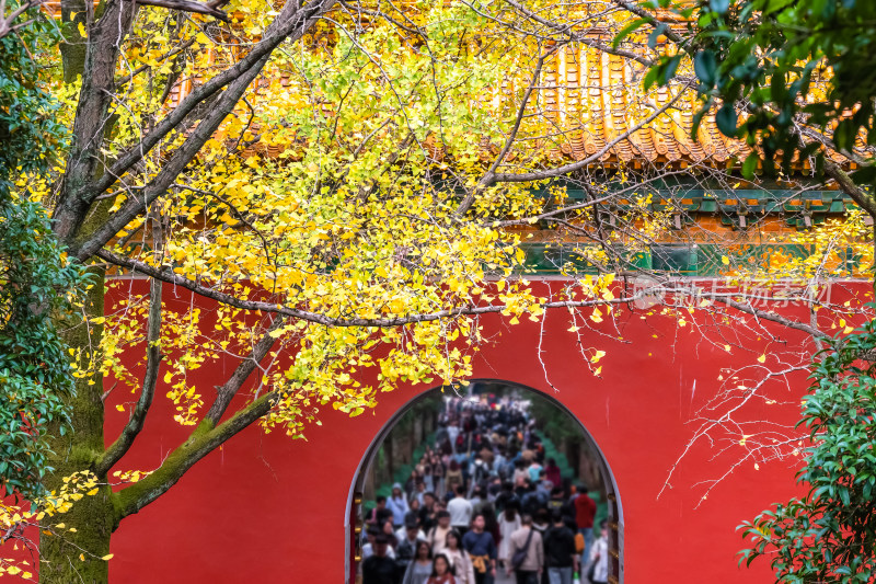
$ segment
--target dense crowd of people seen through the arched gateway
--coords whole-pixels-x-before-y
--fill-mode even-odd
[[[366,517],[362,584],[608,582],[606,522],[509,398],[446,400],[435,443]]]

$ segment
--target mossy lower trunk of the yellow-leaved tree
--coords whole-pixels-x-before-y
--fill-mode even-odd
[[[104,272],[92,268],[90,273],[92,287],[85,298],[84,311],[92,319],[104,313]],[[82,351],[80,368],[88,368],[92,358],[90,347],[100,345],[103,325],[91,323],[89,329],[80,321],[61,323],[61,330],[67,343]],[[100,358],[100,355],[95,357]],[[57,491],[64,484],[65,477],[91,469],[103,453],[102,394],[103,378],[100,373],[77,379],[76,397],[70,402],[72,431],[65,436],[60,436],[57,428],[50,433],[54,455],[49,463],[55,469],[47,481],[50,490]],[[99,482],[105,483],[106,478],[99,477]],[[57,535],[54,536],[41,536],[39,582],[107,582],[107,562],[101,558],[110,553],[110,536],[116,526],[113,499],[110,486],[103,485],[96,495],[85,495],[74,502],[68,513],[53,517],[54,525],[64,524],[65,528],[55,529]],[[76,531],[71,533],[71,527]]]

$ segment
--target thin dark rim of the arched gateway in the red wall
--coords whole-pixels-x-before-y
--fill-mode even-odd
[[[517,390],[520,390],[525,393],[538,393],[542,397],[546,398],[551,401],[558,410],[564,412],[568,415],[572,420],[574,420],[580,428],[580,432],[584,436],[584,440],[587,444],[590,451],[596,453],[598,455],[597,465],[599,467],[599,472],[603,478],[604,489],[607,492],[607,500],[608,500],[608,527],[609,527],[609,554],[611,556],[609,562],[609,582],[612,583],[622,583],[624,582],[623,579],[623,507],[621,506],[621,497],[618,492],[618,483],[614,479],[614,474],[611,471],[611,467],[609,461],[606,459],[606,456],[602,454],[602,450],[599,448],[599,445],[593,439],[593,436],[587,431],[587,427],[581,423],[575,413],[569,410],[557,396],[551,396],[549,393],[541,392],[537,389],[531,387],[527,387],[521,383],[515,383],[512,381],[507,381],[504,379],[472,379],[472,383],[479,382],[488,382],[488,383],[496,383],[506,387],[510,387]],[[415,404],[422,402],[426,399],[434,391],[440,391],[440,388],[435,388],[431,391],[425,391],[419,396],[416,396],[410,399],[401,408],[395,410],[395,413],[390,417],[390,420],[383,424],[383,427],[374,434],[370,444],[368,445],[368,449],[366,450],[365,456],[362,457],[361,461],[359,462],[359,467],[356,469],[356,474],[353,479],[353,483],[350,485],[349,495],[347,499],[347,533],[346,533],[346,566],[345,566],[345,582],[353,584],[356,581],[356,564],[360,561],[360,541],[361,541],[361,530],[364,528],[362,525],[362,512],[361,512],[361,504],[362,504],[362,493],[365,492],[365,482],[368,476],[368,472],[373,465],[374,460],[377,459],[378,450],[380,446],[383,444],[387,436],[389,436],[392,428],[402,416],[410,411]]]

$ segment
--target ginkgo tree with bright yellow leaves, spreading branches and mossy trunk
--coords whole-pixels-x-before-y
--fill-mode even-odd
[[[700,298],[690,283],[637,261],[654,242],[694,241],[677,229],[689,214],[655,201],[658,187],[689,188],[679,178],[729,190],[740,181],[733,165],[711,162],[607,162],[649,124],[672,131],[696,99],[690,79],[671,91],[614,79],[610,91],[625,95],[637,122],[568,159],[575,131],[599,122],[609,90],[579,87],[560,115],[544,85],[553,79],[557,89],[567,49],[584,46],[642,73],[658,61],[644,38],[611,43],[631,18],[624,7],[62,0],[60,16],[60,59],[47,65],[60,67],[54,93],[70,146],[50,176],[22,172],[18,184],[50,209],[54,234],[91,286],[81,318],[58,319],[77,377],[76,396],[65,398],[72,432],[47,430],[48,494],[4,519],[10,534],[45,528],[42,581],[105,581],[111,536],[125,517],[252,424],[300,436],[320,408],[358,415],[381,391],[465,379],[488,342],[483,314],[514,324],[563,309],[596,370],[606,353],[588,327],[641,299],[625,280],[645,273],[655,276],[649,291],[667,295],[647,313],[680,327],[702,312],[752,334],[771,322],[832,342],[823,322],[781,316],[739,289]],[[860,248],[866,263],[866,241],[842,227],[853,221],[826,226],[807,259],[776,257],[770,277],[780,264],[821,277],[840,243],[842,253]],[[521,277],[533,226],[570,243],[589,272],[561,266],[568,286],[551,298]],[[737,283],[754,277],[731,254],[724,260]],[[148,293],[105,306],[107,271],[147,276]],[[215,309],[171,308],[166,285]],[[805,289],[788,299],[818,304]],[[226,358],[234,371],[201,387],[198,370]],[[361,371],[377,371],[377,381]],[[131,400],[106,446],[110,378]],[[159,468],[126,468],[163,399],[188,436]],[[64,491],[70,477],[82,492]],[[74,504],[58,514],[60,493]]]

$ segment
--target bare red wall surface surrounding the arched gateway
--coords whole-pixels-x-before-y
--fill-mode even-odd
[[[187,294],[176,293],[176,301],[188,300]],[[730,469],[745,449],[738,435],[715,448],[701,440],[677,469],[671,489],[657,495],[696,428],[689,420],[721,383],[722,368],[758,366],[761,354],[766,354],[765,366],[775,366],[781,352],[799,348],[802,337],[774,327],[722,331],[705,319],[702,329],[693,323],[678,329],[675,319],[643,320],[639,313],[622,321],[618,331],[601,329],[622,340],[581,331],[585,344],[608,352],[599,364],[601,376],[595,377],[578,353],[575,334],[566,331],[565,312],[551,312],[543,330],[526,319],[508,327],[500,317],[487,318],[485,336],[495,337],[480,353],[474,377],[548,392],[592,434],[618,484],[627,584],[771,582],[764,562],[737,568],[744,540],[735,528],[794,493],[788,462],[761,462],[759,470],[745,462],[696,507],[704,492],[696,483]],[[737,343],[745,350],[725,351],[725,344]],[[203,369],[200,386],[220,383],[234,365]],[[768,388],[779,403],[753,400],[735,416],[793,422],[807,383],[804,374],[791,381],[794,391],[782,382]],[[324,408],[322,425],[309,427],[307,440],[249,428],[196,465],[158,502],[123,522],[113,539],[113,582],[342,584],[347,501],[357,466],[396,409],[426,389],[382,394],[374,411],[356,419]],[[205,393],[209,403],[211,393]],[[158,396],[157,409],[163,411],[150,413],[143,435],[119,469],[155,468],[184,435],[171,421],[163,392]],[[127,419],[115,403],[130,399],[111,396],[107,440]],[[718,454],[727,445],[729,450]]]

